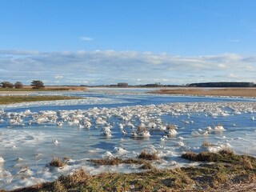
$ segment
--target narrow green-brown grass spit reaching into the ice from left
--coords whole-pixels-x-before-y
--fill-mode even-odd
[[[69,96],[28,96],[28,95],[8,95],[0,96],[0,105],[17,103],[17,102],[41,102],[41,101],[55,101],[55,100],[66,100],[66,99],[78,99],[77,97]]]

